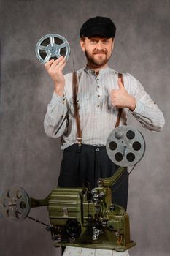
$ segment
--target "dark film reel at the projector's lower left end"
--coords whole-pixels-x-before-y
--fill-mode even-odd
[[[27,217],[31,200],[27,192],[18,186],[6,189],[0,198],[0,210],[5,219],[21,221]]]

